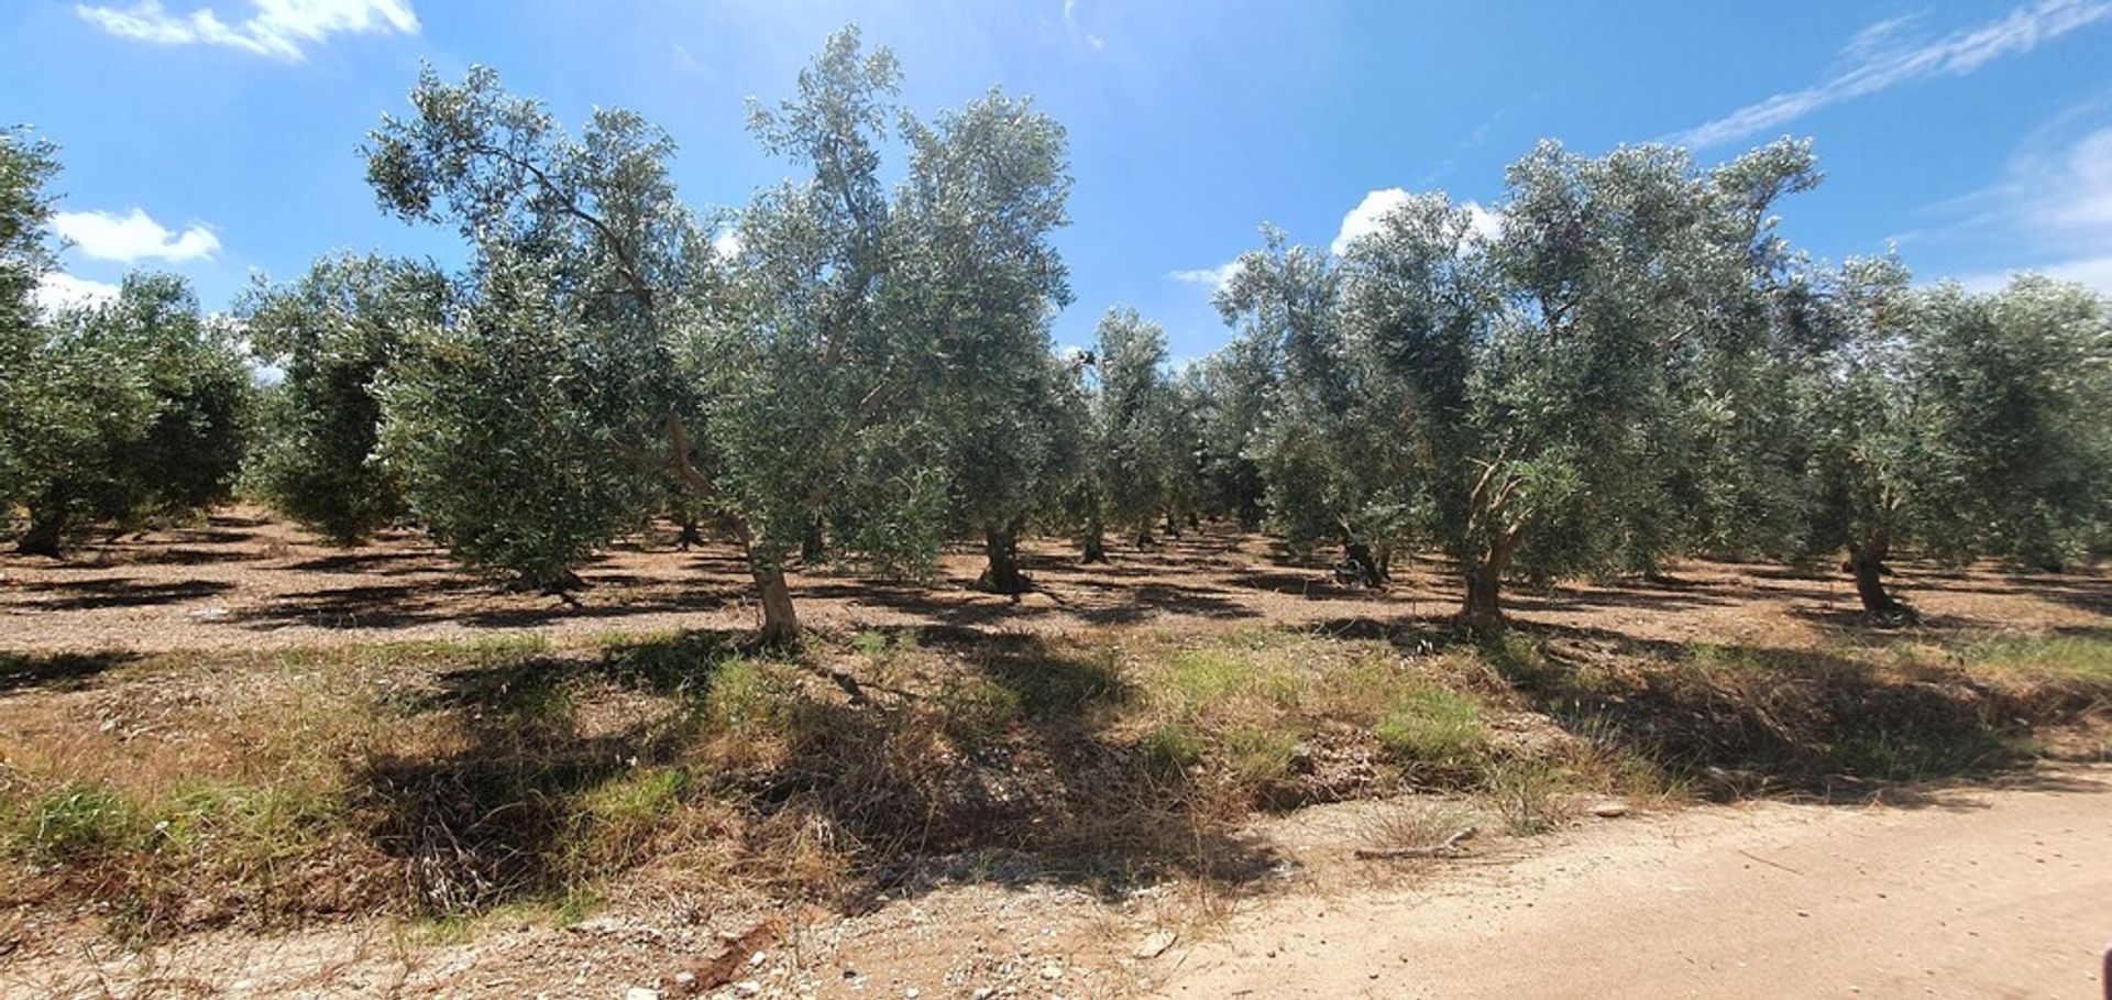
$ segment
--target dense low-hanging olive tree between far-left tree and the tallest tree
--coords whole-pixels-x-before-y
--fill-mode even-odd
[[[380,383],[446,321],[450,292],[427,264],[342,254],[243,296],[251,351],[283,372],[245,469],[264,503],[340,545],[408,512],[399,476],[376,455]]]

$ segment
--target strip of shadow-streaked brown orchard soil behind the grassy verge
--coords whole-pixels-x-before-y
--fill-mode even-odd
[[[972,552],[940,579],[910,586],[830,571],[792,575],[800,615],[822,628],[974,626],[1058,634],[1092,626],[1221,628],[1436,622],[1457,605],[1449,567],[1407,560],[1385,592],[1347,590],[1324,564],[1299,564],[1257,535],[1204,526],[1153,550],[1079,564],[1056,541],[1026,545],[1039,590],[1010,600],[976,592]],[[640,539],[581,573],[579,607],[509,594],[460,573],[414,533],[357,550],[317,543],[253,510],[196,529],[87,545],[65,562],[0,554],[0,649],[245,649],[399,638],[739,630],[756,619],[737,552],[678,552]],[[1903,567],[1892,581],[1935,628],[2101,630],[2112,613],[2104,573],[2009,575]],[[1675,562],[1664,581],[1601,581],[1510,596],[1514,619],[1641,641],[1806,647],[1859,626],[1846,579],[1778,567]]]

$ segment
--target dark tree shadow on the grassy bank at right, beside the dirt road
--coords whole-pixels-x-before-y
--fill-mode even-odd
[[[1514,624],[1489,666],[1573,736],[1635,753],[1709,795],[1818,795],[1894,805],[1916,786],[2034,763],[2057,700],[1996,689],[1962,668],[1880,668],[1823,649],[1637,641],[1609,630]],[[2112,683],[2085,698],[2112,698]]]

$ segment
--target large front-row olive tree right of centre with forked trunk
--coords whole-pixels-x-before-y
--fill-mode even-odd
[[[1544,142],[1508,171],[1497,237],[1430,195],[1350,247],[1366,395],[1417,457],[1462,622],[1500,626],[1510,575],[1637,567],[1683,541],[1683,368],[1751,332],[1726,302],[1778,279],[1770,205],[1812,182],[1793,142],[1713,171],[1675,148]]]

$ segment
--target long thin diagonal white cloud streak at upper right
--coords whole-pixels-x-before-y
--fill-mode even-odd
[[[1842,49],[1844,68],[1825,82],[1778,93],[1738,108],[1673,137],[1683,146],[1717,146],[1759,131],[1780,129],[1829,104],[1863,97],[1930,76],[1964,76],[2009,55],[2023,55],[2068,32],[2112,15],[2106,0],[2040,0],[1977,27],[1962,27],[1937,40],[1909,42],[1909,17],[1878,21]]]

